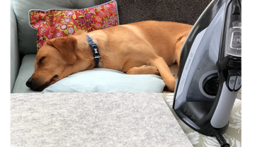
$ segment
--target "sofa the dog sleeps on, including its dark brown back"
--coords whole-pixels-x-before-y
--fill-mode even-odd
[[[25,86],[34,71],[36,31],[28,23],[30,9],[47,10],[89,8],[108,0],[86,1],[8,1],[8,93],[38,93]],[[193,25],[210,0],[132,1],[118,0],[119,24],[142,20],[170,20]],[[158,80],[158,79],[156,79]],[[139,81],[139,80],[136,80]],[[100,91],[98,91],[100,92]],[[154,92],[154,91],[153,91]]]

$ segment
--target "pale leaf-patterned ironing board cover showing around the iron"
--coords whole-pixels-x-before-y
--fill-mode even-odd
[[[169,109],[176,117],[178,124],[181,125],[183,131],[188,136],[188,139],[195,147],[217,147],[220,144],[217,142],[215,137],[205,136],[203,134],[194,131],[188,127],[179,117],[176,112],[172,109],[173,105],[173,95],[174,93],[162,93],[161,94]],[[232,113],[229,119],[229,127],[223,135],[227,143],[231,147],[243,147],[244,146],[244,87],[241,87],[237,95],[237,99],[234,102],[234,107],[232,108]]]

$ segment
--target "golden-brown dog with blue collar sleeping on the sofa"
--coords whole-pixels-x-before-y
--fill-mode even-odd
[[[77,31],[69,37],[48,40],[36,55],[35,72],[26,82],[43,90],[72,73],[93,69],[96,64],[86,35],[98,46],[97,66],[127,74],[156,74],[173,91],[176,78],[169,66],[179,65],[183,42],[193,25],[147,20],[118,25],[91,33]]]

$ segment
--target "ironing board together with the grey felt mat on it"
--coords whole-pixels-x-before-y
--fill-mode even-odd
[[[37,146],[81,146],[90,141],[90,145],[93,146],[105,144],[114,146],[113,143],[116,143],[115,145],[127,143],[125,146],[174,146],[178,144],[178,146],[195,147],[219,146],[215,137],[199,134],[176,116],[172,109],[173,95],[174,93],[9,93],[8,144],[9,146],[32,144]],[[110,108],[108,105],[113,105],[115,114],[108,113],[107,110]],[[134,107],[136,109],[132,109]],[[244,88],[241,88],[234,102],[229,127],[224,134],[224,138],[233,147],[244,146],[243,107]],[[115,117],[118,119],[115,121],[116,124],[113,122],[108,124],[105,123],[102,112],[108,113],[108,117],[104,118],[107,120],[110,120],[110,116],[125,115],[125,118]],[[96,121],[92,121],[96,124],[86,122],[86,117],[84,117],[91,118],[93,113],[98,114],[93,115]],[[126,115],[127,113],[132,113],[132,115]],[[72,119],[69,119],[70,117]],[[118,125],[120,122],[129,122],[128,119],[130,121],[136,119],[140,124],[132,125],[136,122],[128,124],[128,127],[133,127],[133,131]],[[147,120],[149,124],[145,126],[141,124],[142,119]],[[103,123],[110,128],[103,129]],[[91,129],[86,129],[88,126]],[[63,127],[67,130],[64,130]],[[87,130],[88,134],[85,134],[84,130]],[[128,131],[132,133],[134,130],[136,134],[128,134]],[[161,134],[161,136],[154,136],[150,132]],[[108,136],[112,133],[118,137]],[[69,137],[72,134],[74,137]],[[144,138],[141,140],[137,134]]]

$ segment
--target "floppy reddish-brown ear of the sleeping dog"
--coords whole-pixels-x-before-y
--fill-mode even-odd
[[[74,64],[74,62],[76,61],[76,38],[60,37],[55,40],[48,40],[47,45],[55,47],[68,64]]]

